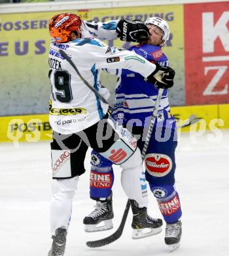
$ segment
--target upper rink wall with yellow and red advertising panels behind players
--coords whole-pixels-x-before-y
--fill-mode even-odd
[[[14,8],[1,5],[0,115],[46,114],[48,111],[48,20],[60,12],[77,12],[83,20],[99,22],[120,18],[145,20],[152,16],[163,18],[171,33],[162,51],[176,70],[169,102],[176,106],[229,104],[229,1],[200,3],[209,1],[99,0],[63,1],[61,4],[52,1],[14,5]],[[135,45],[119,39],[104,42],[110,47],[125,49]],[[103,75],[103,85],[114,91],[116,81],[109,77]]]

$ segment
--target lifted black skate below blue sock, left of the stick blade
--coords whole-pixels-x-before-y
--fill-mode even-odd
[[[113,228],[111,219],[114,217],[112,207],[112,194],[106,200],[97,200],[96,209],[84,218],[84,230],[86,232],[96,232]]]

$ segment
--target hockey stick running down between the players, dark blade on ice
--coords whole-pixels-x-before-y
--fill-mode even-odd
[[[155,119],[156,119],[156,116],[158,113],[160,100],[162,98],[162,93],[163,93],[163,89],[159,89],[158,96],[156,98],[156,102],[154,105],[154,109],[152,110],[152,117],[150,119],[150,125],[149,125],[149,129],[147,132],[147,137],[145,140],[145,144],[143,146],[143,150],[141,152],[142,160],[144,160],[145,154],[147,152],[150,136],[151,136],[152,129],[154,127],[154,122],[155,122]],[[111,236],[107,236],[107,238],[102,238],[100,240],[94,240],[94,241],[88,241],[88,242],[86,242],[86,245],[88,245],[88,247],[101,247],[101,246],[104,246],[107,244],[111,244],[112,242],[115,242],[116,240],[118,240],[118,238],[120,238],[120,236],[122,236],[122,232],[124,230],[124,226],[126,224],[126,219],[127,219],[128,213],[129,213],[129,209],[130,209],[130,200],[128,200],[128,202],[126,203],[126,208],[125,208],[123,216],[122,216],[122,221],[121,221],[120,225],[118,226],[118,229],[115,231],[115,233],[111,234]]]

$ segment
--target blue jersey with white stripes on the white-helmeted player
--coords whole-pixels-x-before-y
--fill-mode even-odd
[[[161,66],[169,66],[167,56],[162,53],[161,47],[135,45],[130,48],[130,51],[134,51],[152,63],[158,62]],[[118,72],[119,79],[115,91],[116,100],[113,110],[114,119],[124,125],[148,126],[158,89],[136,72],[126,69]],[[175,119],[170,114],[167,89],[164,89],[156,122],[158,125],[175,127]]]

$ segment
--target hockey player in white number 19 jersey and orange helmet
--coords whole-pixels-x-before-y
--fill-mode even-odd
[[[148,81],[158,79],[160,83],[167,83],[171,70],[160,68],[130,51],[108,47],[97,39],[82,38],[81,25],[79,16],[71,13],[57,14],[49,24],[53,39],[48,60],[52,82],[50,124],[54,132],[50,210],[53,242],[48,256],[64,254],[72,200],[79,176],[85,171],[88,146],[122,167],[122,187],[128,198],[137,203],[134,221],[147,228],[155,226],[147,219],[147,190],[142,182],[141,153],[135,139],[109,119],[108,104],[86,87],[59,50],[71,57],[80,74],[97,91],[101,88],[101,68],[133,70]],[[162,220],[158,219],[156,224],[160,227]]]

